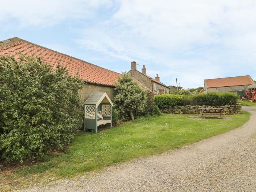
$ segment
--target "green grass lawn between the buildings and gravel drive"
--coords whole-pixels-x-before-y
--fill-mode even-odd
[[[9,184],[20,186],[51,177],[75,176],[114,163],[179,148],[240,127],[249,119],[248,112],[225,116],[232,119],[188,116],[191,115],[162,114],[159,117],[142,117],[97,134],[79,132],[65,153],[45,157],[35,165],[0,176],[0,190],[10,188]]]

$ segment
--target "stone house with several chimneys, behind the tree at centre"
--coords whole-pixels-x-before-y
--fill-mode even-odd
[[[127,72],[134,79],[138,80],[141,84],[147,87],[153,94],[170,93],[169,87],[160,82],[160,77],[157,76],[155,79],[147,75],[147,69],[143,65],[142,72],[137,70],[137,64],[135,61],[131,62],[131,70]]]

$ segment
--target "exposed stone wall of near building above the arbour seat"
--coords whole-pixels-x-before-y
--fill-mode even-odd
[[[116,91],[114,87],[101,86],[96,84],[85,84],[82,89],[78,91],[80,97],[82,98],[82,102],[84,103],[86,99],[90,97],[90,95],[94,92],[106,92],[111,100],[116,96]]]

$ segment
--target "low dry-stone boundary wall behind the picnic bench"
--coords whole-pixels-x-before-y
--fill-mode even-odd
[[[202,110],[200,108],[223,108],[225,114],[238,114],[241,113],[242,106],[239,105],[223,105],[223,106],[208,106],[208,105],[185,105],[185,106],[175,106],[170,107],[169,109],[160,109],[162,113],[175,113],[180,114],[200,114]]]

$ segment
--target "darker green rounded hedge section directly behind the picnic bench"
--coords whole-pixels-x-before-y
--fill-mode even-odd
[[[207,93],[197,94],[191,97],[191,105],[236,105],[238,95],[235,93]]]

